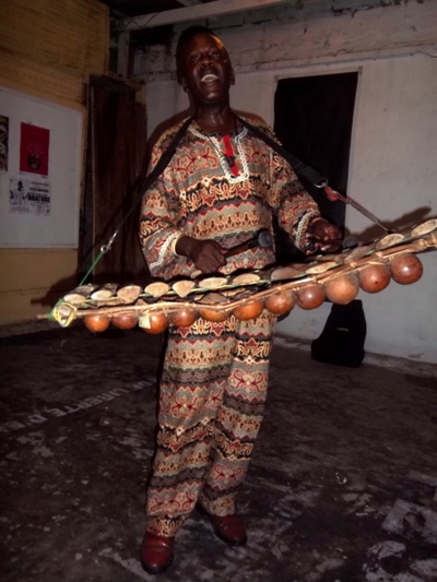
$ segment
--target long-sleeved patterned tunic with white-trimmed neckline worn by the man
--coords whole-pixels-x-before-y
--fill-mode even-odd
[[[262,121],[248,121],[275,139]],[[150,170],[182,123],[162,134]],[[229,153],[234,157],[226,161]],[[256,238],[262,228],[273,234],[273,215],[308,252],[307,227],[319,210],[290,164],[241,126],[224,139],[206,135],[192,120],[170,163],[143,197],[140,240],[151,274],[196,277],[200,271],[193,262],[175,251],[181,235],[213,239],[231,249]],[[274,260],[273,247],[256,247],[229,257],[220,272],[262,269]]]

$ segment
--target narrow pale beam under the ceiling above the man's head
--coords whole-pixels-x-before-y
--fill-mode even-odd
[[[206,4],[196,4],[126,19],[123,21],[123,29],[138,31],[139,28],[152,28],[164,24],[211,19],[233,12],[244,12],[245,10],[256,10],[287,3],[291,3],[290,0],[215,0]]]

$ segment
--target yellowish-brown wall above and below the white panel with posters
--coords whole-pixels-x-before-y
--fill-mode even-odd
[[[106,72],[108,52],[109,11],[97,0],[2,3],[0,86],[82,111],[82,155],[84,85]],[[0,324],[48,311],[76,266],[78,249],[0,249]]]

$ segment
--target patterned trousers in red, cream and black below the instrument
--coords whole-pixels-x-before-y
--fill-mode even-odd
[[[216,515],[235,512],[262,420],[275,321],[264,310],[250,321],[170,326],[147,531],[174,536],[198,501]]]

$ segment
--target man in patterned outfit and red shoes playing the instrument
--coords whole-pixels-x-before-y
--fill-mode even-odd
[[[341,233],[320,217],[291,166],[237,121],[229,106],[234,71],[211,33],[179,43],[179,71],[194,110],[170,163],[143,198],[140,238],[153,276],[262,269],[273,248],[226,251],[256,237],[272,217],[305,252],[333,250]],[[253,122],[253,121],[252,121]],[[273,136],[262,122],[257,126]],[[165,132],[152,167],[180,124]],[[275,317],[173,325],[160,392],[156,452],[141,547],[151,573],[168,568],[175,535],[194,507],[229,545],[244,545],[235,510],[262,419]]]

